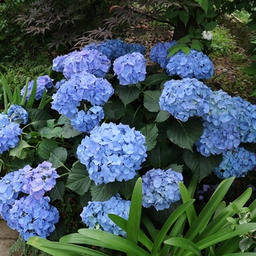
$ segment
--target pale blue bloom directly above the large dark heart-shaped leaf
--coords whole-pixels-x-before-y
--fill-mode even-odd
[[[211,89],[195,78],[169,80],[159,98],[161,110],[168,111],[180,121],[190,116],[204,116],[209,112]]]

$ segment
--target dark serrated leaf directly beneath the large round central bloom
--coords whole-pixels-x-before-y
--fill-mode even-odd
[[[91,187],[92,201],[107,201],[119,192],[121,183],[102,183]]]

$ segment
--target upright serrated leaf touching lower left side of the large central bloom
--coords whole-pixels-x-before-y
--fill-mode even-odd
[[[83,196],[84,193],[88,192],[91,185],[92,180],[88,177],[85,166],[79,162],[74,164],[69,173],[66,187]]]

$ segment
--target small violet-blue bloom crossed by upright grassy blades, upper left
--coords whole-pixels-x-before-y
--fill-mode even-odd
[[[27,93],[26,93],[26,101],[29,100],[29,98],[31,97],[31,91],[32,88],[34,86],[34,80],[31,80],[28,83],[28,87],[27,87]],[[44,91],[52,88],[53,86],[53,80],[48,76],[48,75],[44,75],[44,76],[40,76],[36,79],[36,101],[40,100],[40,98],[43,96]],[[26,90],[26,86],[24,86],[21,89],[21,97],[24,97],[24,93]]]

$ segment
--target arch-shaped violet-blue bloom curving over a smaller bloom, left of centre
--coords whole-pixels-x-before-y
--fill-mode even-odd
[[[114,89],[107,79],[96,78],[90,73],[75,73],[52,96],[52,109],[72,118],[78,113],[81,101],[103,106],[113,93]]]

